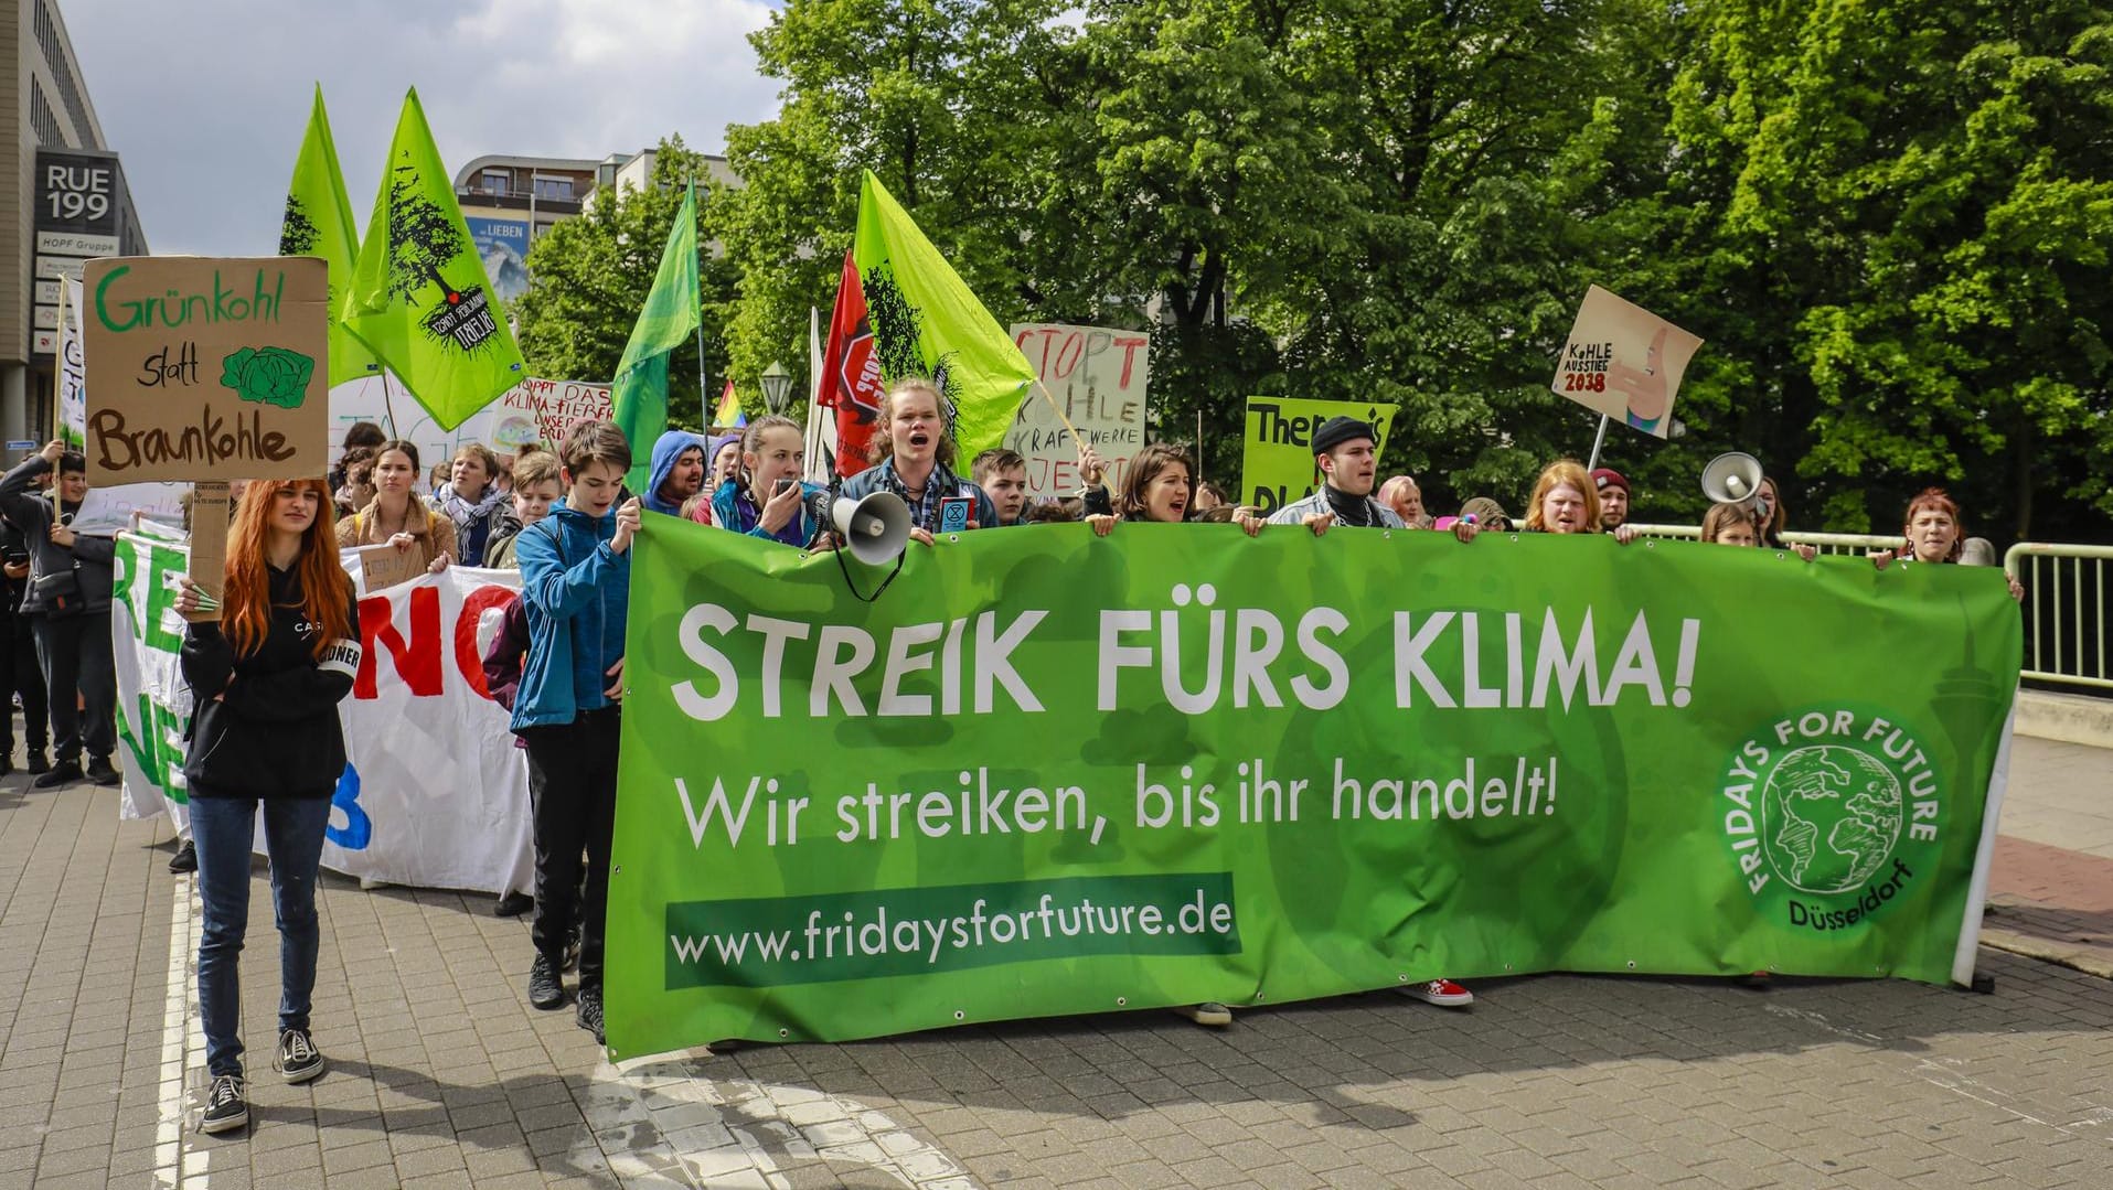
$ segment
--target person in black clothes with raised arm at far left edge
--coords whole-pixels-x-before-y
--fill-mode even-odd
[[[38,478],[53,471],[51,497],[32,495]],[[89,495],[87,471],[78,450],[53,440],[0,478],[0,514],[30,543],[30,592],[21,613],[32,617],[36,657],[51,695],[53,765],[32,782],[36,788],[57,788],[82,776],[101,786],[123,780],[110,765],[118,702],[110,653],[116,541],[74,533],[68,524]],[[89,755],[85,771],[82,748]]]

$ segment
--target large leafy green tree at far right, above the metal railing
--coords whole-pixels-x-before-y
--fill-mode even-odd
[[[1682,402],[1794,465],[1828,528],[1891,531],[1942,482],[1995,537],[2102,535],[2107,6],[1716,0],[1697,19],[1657,199],[1654,287],[1709,338]]]

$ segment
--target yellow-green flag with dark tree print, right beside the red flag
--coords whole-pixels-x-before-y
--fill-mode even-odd
[[[852,262],[866,287],[881,376],[932,376],[964,459],[1002,446],[1035,370],[947,258],[866,171]]]

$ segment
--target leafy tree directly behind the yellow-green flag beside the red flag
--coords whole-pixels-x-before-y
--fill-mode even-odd
[[[1021,241],[1033,224],[1014,152],[1031,93],[1016,72],[1061,42],[1052,2],[792,0],[752,34],[782,110],[727,129],[740,188],[706,226],[727,245],[740,304],[727,317],[733,376],[773,361],[805,374],[807,309],[828,306],[873,169],[999,321],[1025,313]]]

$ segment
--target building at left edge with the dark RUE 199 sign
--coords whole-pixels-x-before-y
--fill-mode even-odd
[[[51,438],[59,277],[146,256],[57,0],[0,0],[0,435]]]

